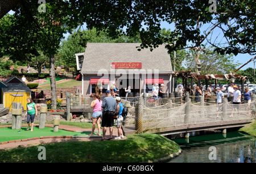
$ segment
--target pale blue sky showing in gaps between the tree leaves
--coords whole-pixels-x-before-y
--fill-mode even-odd
[[[14,12],[13,11],[10,11],[9,14],[13,14]],[[84,29],[86,28],[86,25],[83,26]],[[171,31],[174,30],[174,24],[169,24],[167,22],[162,22],[161,23],[161,28],[166,28],[166,29],[171,29]],[[64,35],[65,39],[67,39],[67,37],[69,36],[70,34],[67,33]],[[214,35],[212,36],[212,38],[214,38]],[[254,56],[251,56],[250,54],[237,54],[237,56],[234,56],[234,62],[239,62],[241,63],[240,66],[238,67],[241,67],[243,64],[245,64],[247,61],[249,61],[251,58],[253,58]],[[251,61],[249,63],[247,63],[247,65],[243,66],[240,70],[245,70],[247,69],[248,67],[252,67],[254,68],[254,62]]]

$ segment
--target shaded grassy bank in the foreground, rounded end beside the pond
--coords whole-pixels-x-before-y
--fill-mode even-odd
[[[46,148],[46,160],[38,159],[38,148]],[[136,163],[166,157],[179,145],[157,134],[128,135],[122,141],[49,143],[27,148],[0,150],[0,162],[32,163]]]

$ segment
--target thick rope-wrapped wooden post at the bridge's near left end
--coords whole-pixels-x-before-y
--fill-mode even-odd
[[[143,133],[143,98],[139,97],[139,101],[135,103],[135,130],[138,134]]]

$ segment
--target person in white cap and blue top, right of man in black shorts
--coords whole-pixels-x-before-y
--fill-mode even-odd
[[[117,129],[118,129],[118,137],[115,137],[115,139],[121,139],[123,137],[123,131],[122,131],[122,122],[123,122],[123,117],[122,117],[122,112],[123,112],[123,104],[121,103],[121,98],[116,97],[115,98],[117,102],[117,107],[115,108],[115,113],[114,115],[117,115]]]

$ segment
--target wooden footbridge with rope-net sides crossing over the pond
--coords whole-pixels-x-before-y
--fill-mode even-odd
[[[158,107],[146,107],[141,97],[135,107],[129,108],[123,131],[125,135],[170,135],[245,126],[255,120],[255,96],[253,94],[251,104],[236,105],[224,98],[223,103],[217,105],[205,102],[201,96],[198,103],[192,103],[190,98],[186,98],[184,104],[168,99]]]

